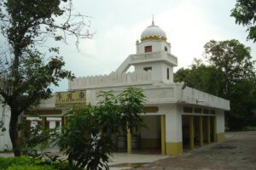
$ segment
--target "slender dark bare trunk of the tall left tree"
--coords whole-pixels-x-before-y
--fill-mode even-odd
[[[9,122],[9,137],[13,144],[13,150],[15,156],[21,156],[20,141],[18,139],[18,111],[11,111],[11,117]]]

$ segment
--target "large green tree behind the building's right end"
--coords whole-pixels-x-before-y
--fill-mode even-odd
[[[237,40],[207,42],[204,46],[209,65],[196,63],[180,69],[175,81],[230,100],[225,116],[230,130],[254,125],[256,119],[256,78],[250,48]]]

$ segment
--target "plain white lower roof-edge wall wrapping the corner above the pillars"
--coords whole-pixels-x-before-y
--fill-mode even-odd
[[[230,110],[230,101],[226,99],[213,96],[212,94],[207,94],[196,90],[194,88],[184,88],[183,83],[154,83],[148,85],[136,85],[133,87],[142,88],[143,93],[146,95],[146,104],[148,105],[160,105],[160,104],[183,104],[183,105],[198,105],[197,107],[206,106],[220,109],[220,110]],[[84,87],[85,88],[85,87]],[[77,87],[77,89],[84,89],[83,86]],[[86,102],[91,105],[96,105],[99,99],[96,98],[100,91],[112,90],[114,94],[119,94],[126,88],[126,85],[109,87],[109,88],[90,88],[86,90]],[[202,102],[198,102],[202,101]],[[196,106],[195,106],[196,107]]]

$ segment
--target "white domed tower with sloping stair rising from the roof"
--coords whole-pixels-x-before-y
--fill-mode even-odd
[[[173,67],[177,66],[177,57],[171,54],[171,44],[166,42],[166,32],[159,26],[148,26],[137,40],[137,53],[131,54],[117,72],[125,72],[131,65],[135,71],[152,71],[155,82],[173,82]]]

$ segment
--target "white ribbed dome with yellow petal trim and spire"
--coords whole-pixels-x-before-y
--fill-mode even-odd
[[[146,28],[141,36],[141,41],[145,40],[163,40],[166,41],[166,32],[160,29],[159,26],[154,26],[154,21],[152,21],[152,25]]]

